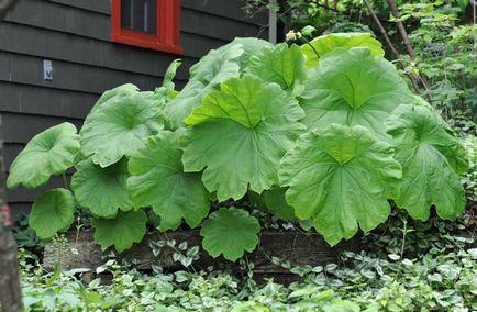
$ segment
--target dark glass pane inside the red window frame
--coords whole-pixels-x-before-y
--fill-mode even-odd
[[[157,0],[121,0],[121,27],[156,34]]]

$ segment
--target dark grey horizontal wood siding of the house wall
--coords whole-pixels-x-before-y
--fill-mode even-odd
[[[177,74],[209,49],[236,36],[266,36],[267,15],[246,18],[243,1],[182,0]],[[69,121],[78,127],[98,97],[125,82],[152,90],[178,56],[110,41],[109,0],[20,0],[0,23],[0,114],[7,169],[36,133]],[[53,62],[53,80],[43,80],[43,60]],[[60,186],[53,178],[51,186]],[[43,189],[8,192],[14,210],[29,210]]]

